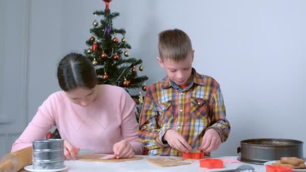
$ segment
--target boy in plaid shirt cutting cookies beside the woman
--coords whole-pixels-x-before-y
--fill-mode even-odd
[[[138,140],[149,155],[176,156],[193,149],[209,154],[230,133],[219,84],[192,68],[194,50],[185,32],[161,32],[159,53],[167,76],[147,90]]]

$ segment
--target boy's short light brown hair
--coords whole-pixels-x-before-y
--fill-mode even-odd
[[[192,53],[190,38],[180,29],[163,31],[159,34],[159,52],[162,60],[185,60]]]

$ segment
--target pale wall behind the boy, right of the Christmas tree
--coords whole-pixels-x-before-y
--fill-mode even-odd
[[[237,155],[239,142],[250,138],[306,141],[306,1],[138,0],[110,8],[121,14],[114,26],[127,31],[130,54],[144,61],[147,84],[165,74],[156,61],[158,33],[189,34],[193,66],[220,83],[232,126],[213,155]]]

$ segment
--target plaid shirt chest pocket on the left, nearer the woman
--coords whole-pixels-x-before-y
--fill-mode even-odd
[[[160,121],[161,125],[168,123],[173,118],[172,114],[173,107],[171,105],[172,101],[168,101],[157,105],[156,108],[159,113],[157,120]]]

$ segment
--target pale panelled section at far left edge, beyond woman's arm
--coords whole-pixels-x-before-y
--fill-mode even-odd
[[[27,2],[0,1],[0,155],[27,125],[27,21]]]

